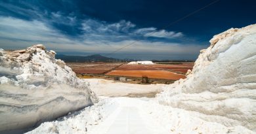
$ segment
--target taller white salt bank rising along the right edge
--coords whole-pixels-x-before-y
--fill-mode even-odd
[[[201,50],[187,78],[171,84],[157,99],[163,105],[229,128],[223,133],[253,133],[256,131],[256,24],[228,29],[210,42],[209,48]]]

